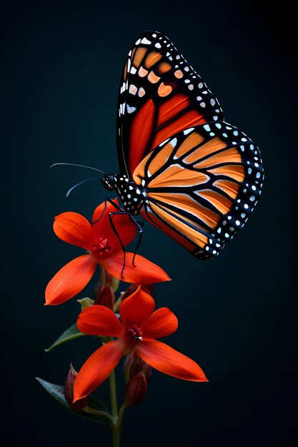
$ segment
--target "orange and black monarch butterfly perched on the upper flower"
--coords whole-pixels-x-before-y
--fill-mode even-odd
[[[126,57],[116,132],[120,174],[101,181],[121,199],[119,212],[140,214],[199,259],[217,256],[257,204],[262,159],[157,31]]]

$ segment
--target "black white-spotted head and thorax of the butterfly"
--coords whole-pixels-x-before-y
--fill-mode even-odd
[[[124,174],[106,174],[101,183],[108,191],[116,191],[127,213],[133,216],[140,213],[146,200],[145,189],[139,189],[139,186]]]

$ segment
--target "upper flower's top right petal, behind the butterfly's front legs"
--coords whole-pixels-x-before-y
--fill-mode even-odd
[[[118,200],[114,199],[114,203],[118,205]],[[104,214],[103,214],[104,212]],[[109,220],[109,213],[117,213],[119,209],[116,206],[113,206],[109,202],[106,202],[106,209],[104,211],[104,202],[97,206],[94,211],[92,217],[92,230],[94,236],[97,238],[98,236],[102,238],[107,238],[109,241],[109,245],[116,250],[121,249],[121,243],[119,242],[119,238],[124,246],[126,246],[129,242],[134,239],[136,236],[137,227],[131,218],[127,214],[116,214],[111,216],[113,224],[116,228],[116,231],[119,235],[116,235],[115,231],[111,226],[111,222]]]

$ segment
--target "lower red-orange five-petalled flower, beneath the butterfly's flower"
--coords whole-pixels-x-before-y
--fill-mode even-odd
[[[206,382],[197,363],[165,343],[154,340],[168,336],[178,327],[169,308],[154,311],[152,296],[139,287],[120,306],[120,318],[104,306],[90,306],[79,315],[77,326],[83,333],[117,337],[97,349],[84,363],[74,383],[74,401],[88,396],[113,371],[122,356],[134,351],[162,373],[188,381]]]

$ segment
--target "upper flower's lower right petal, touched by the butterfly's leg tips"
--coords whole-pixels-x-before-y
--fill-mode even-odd
[[[111,275],[116,276],[116,278],[125,281],[126,283],[134,284],[152,284],[160,283],[162,281],[171,281],[171,278],[167,276],[167,273],[162,270],[157,264],[154,264],[148,259],[143,258],[139,254],[136,254],[134,258],[135,265],[132,264],[132,259],[134,253],[126,253],[125,256],[125,266],[122,278],[121,271],[124,263],[124,253],[123,251],[117,251],[112,253],[109,258],[106,258],[102,264],[106,271],[111,273]]]

